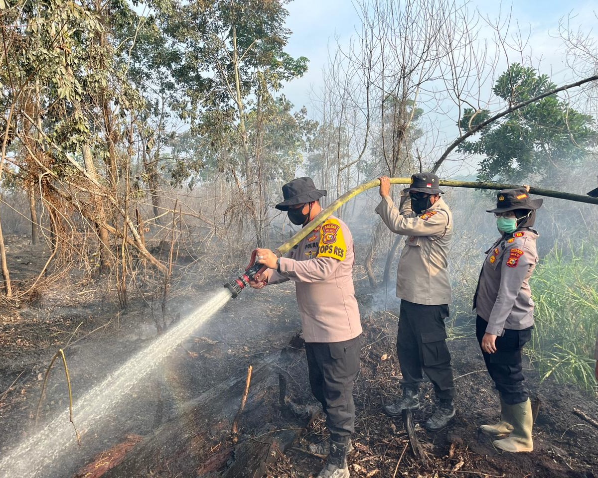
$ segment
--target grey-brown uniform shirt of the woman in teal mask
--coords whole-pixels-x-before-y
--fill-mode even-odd
[[[474,296],[474,309],[487,321],[487,333],[502,336],[504,329],[533,325],[529,278],[538,263],[536,238],[536,231],[518,231],[513,237],[505,235],[488,252]]]

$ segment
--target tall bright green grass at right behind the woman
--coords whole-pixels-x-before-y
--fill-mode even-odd
[[[566,244],[570,246],[570,244]],[[566,252],[563,252],[566,250]],[[530,280],[536,302],[528,345],[542,378],[597,391],[594,344],[598,331],[598,246],[553,249]]]

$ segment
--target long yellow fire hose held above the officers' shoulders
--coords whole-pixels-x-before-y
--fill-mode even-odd
[[[411,178],[409,177],[391,177],[390,184],[410,184]],[[512,189],[512,188],[520,188],[521,185],[514,185],[514,184],[499,184],[499,183],[487,183],[487,182],[477,182],[477,181],[451,181],[451,180],[441,180],[441,186],[449,186],[451,188],[472,188],[472,189]],[[330,204],[327,208],[323,209],[318,216],[314,217],[311,222],[307,223],[307,225],[301,229],[301,231],[297,232],[293,237],[291,237],[286,243],[282,244],[278,249],[276,249],[276,255],[282,256],[293,246],[298,244],[301,239],[306,237],[310,232],[313,231],[317,226],[321,225],[328,216],[330,216],[335,210],[339,207],[343,206],[344,203],[349,201],[350,199],[354,198],[356,195],[361,194],[364,191],[367,191],[371,188],[377,188],[380,186],[380,180],[374,179],[370,182],[364,183],[359,186],[355,186],[353,189],[349,189],[346,193],[344,193],[341,197],[339,197],[334,203]],[[530,194],[537,194],[539,196],[547,196],[559,199],[566,199],[569,201],[577,201],[579,203],[588,203],[588,204],[598,204],[598,198],[592,198],[589,196],[584,196],[581,194],[571,194],[569,192],[560,192],[560,191],[551,191],[550,189],[541,189],[541,188],[529,188]]]

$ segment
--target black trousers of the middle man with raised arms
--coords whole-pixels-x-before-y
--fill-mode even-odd
[[[404,387],[416,388],[426,373],[440,400],[454,397],[453,369],[447,348],[444,319],[449,306],[414,304],[401,299],[396,356],[401,366]]]

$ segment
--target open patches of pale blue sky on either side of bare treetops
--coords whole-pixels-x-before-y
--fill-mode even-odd
[[[310,87],[318,90],[321,85],[322,66],[328,49],[334,48],[335,36],[347,42],[355,32],[359,19],[350,0],[294,0],[288,5],[286,25],[293,34],[286,51],[292,56],[306,56],[310,68],[306,75],[286,85],[284,93],[295,106],[309,106]],[[515,3],[489,0],[471,0],[468,8],[478,9],[484,16],[495,18],[499,8],[512,9],[512,19],[523,30],[530,30],[530,47],[535,63],[542,59],[542,70],[555,73],[554,81],[570,81],[573,76],[566,69],[562,43],[557,35],[559,19],[575,16],[571,26],[582,26],[585,32],[598,31],[598,3],[588,0],[520,0]],[[565,70],[565,71],[563,71]]]

